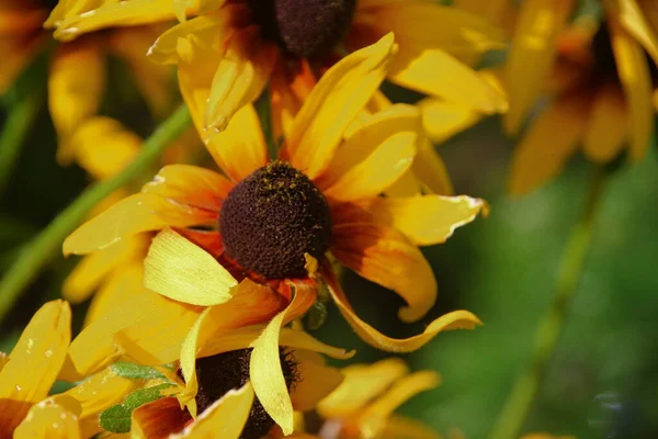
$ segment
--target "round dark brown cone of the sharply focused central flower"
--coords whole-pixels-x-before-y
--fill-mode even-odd
[[[242,269],[270,279],[305,278],[305,254],[321,259],[329,248],[331,212],[308,177],[273,161],[229,192],[219,233]]]

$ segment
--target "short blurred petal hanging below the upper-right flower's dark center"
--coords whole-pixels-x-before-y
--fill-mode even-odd
[[[628,135],[626,102],[619,85],[601,86],[592,101],[592,111],[582,138],[590,160],[606,164],[622,150]]]

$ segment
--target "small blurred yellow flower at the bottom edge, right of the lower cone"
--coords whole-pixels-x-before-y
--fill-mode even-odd
[[[374,364],[352,364],[342,373],[342,384],[318,404],[317,410],[325,420],[319,437],[441,437],[418,420],[394,414],[410,397],[439,385],[436,372],[410,373],[404,361],[390,358]]]

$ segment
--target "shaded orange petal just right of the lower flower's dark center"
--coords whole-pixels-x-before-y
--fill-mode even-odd
[[[326,365],[325,358],[317,352],[296,350],[293,358],[300,376],[291,392],[293,407],[297,412],[310,410],[340,385],[343,375],[340,370]]]

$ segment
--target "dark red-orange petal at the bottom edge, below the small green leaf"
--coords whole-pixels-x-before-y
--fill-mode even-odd
[[[131,437],[134,439],[168,438],[181,431],[190,420],[177,398],[163,397],[140,405],[133,410]]]

